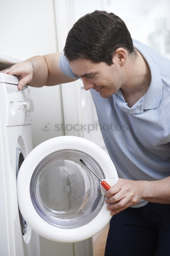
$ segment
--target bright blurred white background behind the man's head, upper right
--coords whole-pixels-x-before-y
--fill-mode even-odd
[[[164,49],[161,36],[165,31],[170,33],[169,0],[74,0],[74,6],[76,20],[95,9],[113,12],[123,19],[133,38],[153,48],[149,36],[157,31],[157,38],[155,36],[153,39],[159,41],[156,50],[170,57],[170,53]],[[162,20],[165,21],[165,27]]]

